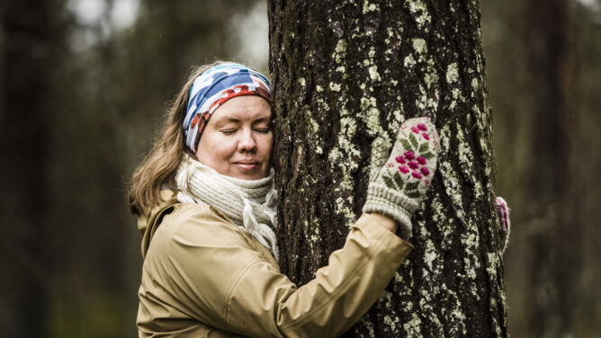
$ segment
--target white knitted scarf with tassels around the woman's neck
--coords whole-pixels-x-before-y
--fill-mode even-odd
[[[219,209],[279,259],[274,231],[277,228],[274,169],[260,180],[240,180],[217,173],[185,155],[175,181],[180,190],[178,201],[204,203]]]

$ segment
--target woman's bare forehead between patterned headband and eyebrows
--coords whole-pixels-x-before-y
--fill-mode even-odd
[[[257,95],[243,95],[229,99],[213,112],[211,120],[257,120],[271,118],[269,102]]]

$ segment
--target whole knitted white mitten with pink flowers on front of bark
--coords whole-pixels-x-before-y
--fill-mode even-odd
[[[394,218],[401,233],[409,235],[411,217],[432,181],[439,151],[438,133],[430,119],[406,120],[388,161],[369,183],[363,212]]]

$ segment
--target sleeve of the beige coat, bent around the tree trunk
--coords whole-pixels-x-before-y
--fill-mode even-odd
[[[223,228],[212,226],[220,229],[220,239],[210,241],[212,234],[205,234],[198,243],[190,236],[174,236],[171,259],[177,269],[170,275],[175,277],[175,292],[182,293],[181,307],[199,321],[251,337],[343,334],[379,298],[412,248],[363,215],[327,266],[297,288],[244,236],[222,233],[238,228],[227,223]]]

